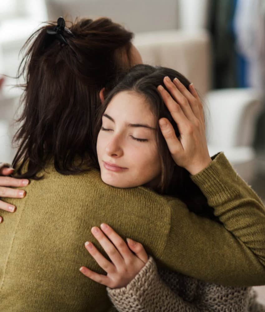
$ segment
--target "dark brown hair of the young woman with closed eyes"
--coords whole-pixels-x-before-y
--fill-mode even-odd
[[[150,109],[157,117],[157,146],[161,159],[161,180],[155,191],[182,199],[191,211],[201,216],[207,216],[218,220],[213,214],[213,210],[208,206],[207,199],[200,188],[191,180],[190,173],[174,162],[167,147],[166,140],[161,133],[158,120],[162,117],[167,118],[179,137],[179,130],[176,122],[172,118],[169,110],[164,104],[161,95],[157,90],[158,85],[166,86],[163,78],[168,76],[171,80],[175,77],[188,89],[190,81],[175,71],[166,67],[136,65],[123,77],[117,86],[108,94],[104,104],[98,112],[96,132],[97,135],[102,126],[102,115],[113,97],[122,91],[134,91],[146,98]]]

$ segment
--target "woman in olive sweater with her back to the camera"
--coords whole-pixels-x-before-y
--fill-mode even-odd
[[[190,213],[177,198],[167,202],[167,197],[146,188],[119,189],[102,183],[99,172],[91,168],[97,164],[92,137],[99,94],[102,97],[104,87],[108,93],[117,73],[135,64],[138,55],[130,44],[131,34],[109,20],[77,22],[70,32],[60,25],[43,27],[31,38],[35,40],[25,59],[25,108],[14,165],[23,178],[32,180],[24,199],[9,200],[17,204],[16,214],[3,212],[0,232],[7,242],[0,242],[1,308],[108,310],[105,288],[76,274],[81,265],[96,269],[82,245],[103,217],[124,238],[141,241],[160,265],[224,285],[263,284],[262,255],[221,224]],[[183,137],[190,140],[188,134]],[[204,161],[197,160],[191,171],[211,161],[203,152]],[[41,175],[44,178],[37,180]],[[257,197],[244,188],[244,196]],[[258,197],[249,202],[253,210],[261,209]],[[243,201],[245,206],[249,202]],[[150,224],[148,233],[142,231]],[[190,228],[202,245],[194,246]],[[92,236],[91,240],[95,241]],[[209,258],[207,250],[214,248]]]

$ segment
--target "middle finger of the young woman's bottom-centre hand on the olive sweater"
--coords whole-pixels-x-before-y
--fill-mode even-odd
[[[103,247],[104,251],[106,251],[110,260],[114,263],[114,265],[122,266],[124,264],[124,260],[113,243],[104,235],[104,233],[99,229],[99,227],[92,227],[92,234],[98,240],[99,244]]]

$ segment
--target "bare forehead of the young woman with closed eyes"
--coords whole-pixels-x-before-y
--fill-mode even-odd
[[[105,110],[105,113],[116,120],[128,123],[149,123],[155,126],[156,116],[150,110],[150,103],[143,95],[134,91],[117,93]]]

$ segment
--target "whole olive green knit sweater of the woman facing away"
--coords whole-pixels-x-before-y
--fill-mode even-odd
[[[50,166],[24,199],[1,212],[0,311],[110,311],[106,287],[79,272],[104,274],[84,248],[90,229],[108,223],[142,242],[158,266],[230,286],[265,284],[265,209],[223,153],[191,176],[221,224],[178,198],[148,188],[106,185],[99,171],[61,175]],[[104,253],[103,253],[104,254]]]

